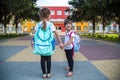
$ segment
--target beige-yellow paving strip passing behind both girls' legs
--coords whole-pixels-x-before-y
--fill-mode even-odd
[[[6,61],[39,62],[40,56],[34,55],[32,53],[32,50],[33,50],[32,47],[29,46],[26,49],[22,50],[21,52],[17,53],[16,55],[10,57]],[[74,60],[86,61],[87,59],[81,53],[75,53]],[[52,61],[54,62],[66,61],[64,50],[60,49],[59,46],[56,46],[55,53],[52,55]]]

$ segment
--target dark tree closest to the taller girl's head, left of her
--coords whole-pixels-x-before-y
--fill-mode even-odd
[[[13,16],[15,16],[15,20],[14,20],[14,24],[16,27],[16,33],[17,33],[17,28],[18,28],[18,23],[20,22],[21,19],[25,20],[25,19],[34,19],[34,20],[38,20],[38,11],[39,8],[35,7],[35,1],[36,0],[12,0],[12,14]],[[20,4],[18,4],[20,3]],[[35,16],[35,17],[33,17]]]

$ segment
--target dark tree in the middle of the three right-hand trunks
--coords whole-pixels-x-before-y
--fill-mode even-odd
[[[105,31],[105,26],[110,22],[110,12],[108,5],[111,4],[111,0],[98,0],[95,6],[98,8],[98,16],[100,16],[100,22],[103,25],[103,34]]]

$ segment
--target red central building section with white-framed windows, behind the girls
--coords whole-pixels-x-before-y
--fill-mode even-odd
[[[69,8],[69,6],[42,6],[41,8],[49,8],[51,11],[51,19],[50,21],[54,23],[57,30],[65,31],[64,28],[64,20],[67,16],[70,15],[69,12],[65,10]]]

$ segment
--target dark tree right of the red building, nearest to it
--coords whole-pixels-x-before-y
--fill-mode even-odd
[[[91,4],[92,3],[92,4]],[[97,8],[94,6],[93,0],[72,0],[69,4],[73,6],[72,18],[74,21],[92,21],[93,23],[93,34],[95,33],[95,21],[97,16]]]

